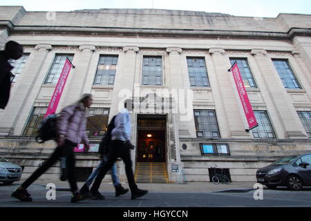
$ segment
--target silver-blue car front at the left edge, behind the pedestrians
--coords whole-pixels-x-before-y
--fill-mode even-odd
[[[21,173],[21,166],[12,164],[3,157],[0,157],[0,182],[3,182],[3,184],[12,184],[21,179]]]

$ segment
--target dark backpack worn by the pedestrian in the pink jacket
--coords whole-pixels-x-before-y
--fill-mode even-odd
[[[39,144],[42,144],[48,140],[55,139],[56,137],[56,121],[57,115],[48,115],[42,119],[38,126],[38,135],[35,138]],[[41,140],[41,142],[39,142]]]

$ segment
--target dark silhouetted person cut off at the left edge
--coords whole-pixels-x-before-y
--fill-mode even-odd
[[[0,109],[6,108],[10,98],[11,81],[13,77],[12,66],[8,62],[9,59],[19,59],[23,56],[23,46],[16,41],[8,41],[6,48],[0,51]]]

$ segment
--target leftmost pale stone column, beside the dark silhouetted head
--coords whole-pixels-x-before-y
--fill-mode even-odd
[[[0,122],[0,135],[19,135],[21,130],[15,131],[19,117],[26,118],[39,93],[42,82],[38,79],[41,68],[48,52],[52,50],[50,44],[38,44],[28,58],[28,69],[23,73],[22,80],[15,93],[10,96],[7,108],[3,111]]]

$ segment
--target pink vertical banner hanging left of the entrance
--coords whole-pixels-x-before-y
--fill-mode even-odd
[[[73,67],[73,64],[71,64],[70,60],[67,58],[64,64],[64,68],[62,70],[62,73],[59,76],[58,82],[56,84],[54,93],[52,98],[50,99],[50,104],[48,105],[48,110],[46,110],[46,116],[51,115],[56,112],[56,108],[59,103],[59,99],[62,97],[62,93],[67,81],[67,77],[69,75],[69,72],[71,68]]]

